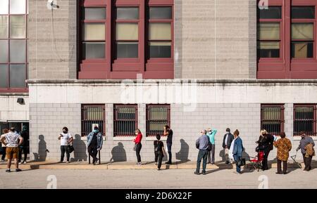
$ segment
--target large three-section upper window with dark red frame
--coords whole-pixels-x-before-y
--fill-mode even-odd
[[[173,0],[80,1],[79,79],[173,79]],[[88,13],[88,14],[87,14]]]

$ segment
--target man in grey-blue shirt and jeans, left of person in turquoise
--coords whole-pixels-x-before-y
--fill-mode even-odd
[[[197,157],[197,166],[194,174],[199,175],[199,169],[201,164],[201,159],[203,159],[203,175],[206,175],[206,165],[207,165],[207,155],[208,155],[208,146],[209,146],[209,137],[206,136],[207,131],[201,130],[201,136],[196,140],[196,148],[199,149],[198,157]]]

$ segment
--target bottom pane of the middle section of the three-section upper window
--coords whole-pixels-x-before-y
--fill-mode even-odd
[[[138,43],[137,42],[117,42],[116,54],[117,58],[137,58],[138,57]]]

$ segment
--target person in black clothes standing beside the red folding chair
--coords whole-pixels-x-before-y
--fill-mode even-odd
[[[265,129],[260,131],[259,140],[256,141],[259,150],[263,151],[262,170],[268,170],[268,155],[273,150],[274,137],[269,134]]]

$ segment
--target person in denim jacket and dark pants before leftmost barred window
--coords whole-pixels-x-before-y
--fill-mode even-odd
[[[97,153],[102,148],[103,138],[99,132],[98,126],[94,126],[94,130],[87,136],[87,151],[89,156],[92,156],[92,164],[98,162]]]

